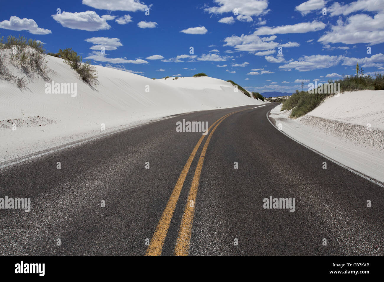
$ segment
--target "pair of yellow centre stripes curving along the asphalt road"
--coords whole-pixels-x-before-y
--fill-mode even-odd
[[[245,110],[248,110],[248,109],[245,109]],[[207,147],[208,147],[209,141],[211,140],[212,134],[215,132],[218,125],[224,119],[226,119],[228,116],[232,114],[235,114],[241,111],[243,110],[238,110],[236,112],[232,112],[220,117],[220,119],[216,120],[207,130],[207,132],[209,132],[209,130],[212,127],[214,127],[210,132],[208,139],[204,143],[203,150],[200,154],[199,162],[197,163],[194,178],[192,180],[192,185],[189,190],[188,201],[187,201],[187,204],[185,205],[185,210],[184,210],[182,222],[180,225],[179,236],[177,238],[176,247],[175,247],[175,255],[188,255],[188,252],[189,252],[189,244],[190,244],[190,238],[191,238],[191,232],[192,232],[192,223],[193,223],[193,217],[194,217],[194,211],[195,211],[197,188],[199,187],[200,174],[203,168],[205,152],[207,152]],[[187,160],[187,163],[185,163],[185,166],[182,172],[180,173],[179,178],[177,179],[175,188],[173,189],[172,194],[169,197],[166,208],[164,209],[161,215],[161,218],[159,220],[159,223],[157,224],[155,232],[152,236],[152,239],[150,241],[150,244],[146,252],[146,256],[161,255],[162,247],[167,237],[170,222],[172,220],[172,216],[174,214],[177,201],[179,200],[179,196],[183,188],[185,178],[187,177],[187,173],[189,172],[189,168],[195,158],[196,152],[199,149],[200,144],[202,143],[205,136],[206,135],[202,135],[202,137],[200,137],[195,148],[190,154]]]

